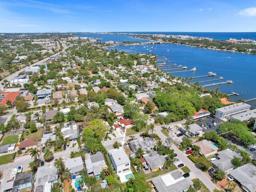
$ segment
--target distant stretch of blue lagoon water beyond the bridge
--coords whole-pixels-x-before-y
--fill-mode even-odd
[[[90,37],[90,38],[102,39],[102,40],[100,40],[101,42],[106,42],[106,41],[114,41],[114,42],[124,42],[124,41],[148,42],[149,41],[149,40],[146,40],[146,39],[134,38],[133,36],[128,36],[128,35],[82,34],[82,35],[78,35],[78,37]]]

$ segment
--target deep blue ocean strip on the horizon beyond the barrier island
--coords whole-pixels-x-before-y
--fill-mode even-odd
[[[254,39],[256,32],[113,32],[113,33],[132,33],[132,34],[164,34],[164,35],[188,35],[194,37],[208,37],[218,40],[235,39]]]

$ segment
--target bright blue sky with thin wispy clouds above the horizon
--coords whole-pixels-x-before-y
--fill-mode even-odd
[[[256,32],[256,0],[0,0],[0,32]]]

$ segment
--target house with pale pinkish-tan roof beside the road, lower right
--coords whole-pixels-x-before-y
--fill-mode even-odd
[[[218,147],[216,147],[214,144],[212,144],[211,142],[209,142],[206,139],[204,139],[202,141],[198,141],[198,142],[194,143],[193,145],[200,146],[201,150],[199,153],[200,153],[200,155],[202,155],[206,158],[213,156],[214,154],[216,154],[218,152]]]

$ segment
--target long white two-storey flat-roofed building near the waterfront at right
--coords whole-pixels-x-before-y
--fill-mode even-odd
[[[220,119],[229,118],[230,116],[242,112],[246,112],[251,108],[250,105],[246,103],[238,103],[238,104],[232,104],[229,106],[225,106],[222,108],[218,108],[215,110],[215,116],[217,116]]]

